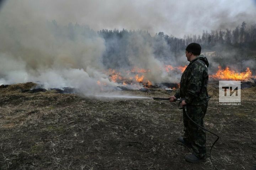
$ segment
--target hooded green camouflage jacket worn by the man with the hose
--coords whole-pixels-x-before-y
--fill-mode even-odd
[[[180,90],[176,98],[185,98],[190,105],[201,105],[210,100],[207,92],[208,60],[203,54],[190,62],[181,76]]]

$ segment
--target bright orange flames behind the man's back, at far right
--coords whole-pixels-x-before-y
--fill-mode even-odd
[[[252,72],[249,67],[246,68],[245,72],[238,73],[230,70],[229,67],[222,69],[220,66],[216,74],[210,75],[211,78],[219,80],[248,80],[251,76]]]

